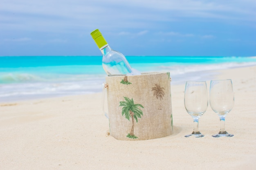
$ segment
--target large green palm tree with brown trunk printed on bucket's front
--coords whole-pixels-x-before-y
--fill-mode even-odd
[[[122,116],[124,116],[128,121],[132,118],[132,129],[130,133],[126,136],[132,139],[137,138],[134,135],[134,120],[138,123],[138,118],[141,118],[143,112],[140,108],[144,108],[141,104],[134,104],[133,99],[129,99],[128,97],[124,97],[125,101],[119,102],[119,107],[123,106],[122,108]]]

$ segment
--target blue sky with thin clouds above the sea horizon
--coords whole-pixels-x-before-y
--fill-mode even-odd
[[[0,56],[255,56],[256,0],[0,0]]]

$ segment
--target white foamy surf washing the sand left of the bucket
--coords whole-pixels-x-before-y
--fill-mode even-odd
[[[83,77],[83,80],[81,80]],[[31,99],[37,97],[81,95],[101,91],[105,75],[79,75],[52,77],[41,81],[21,81],[19,83],[0,84],[0,102],[16,99]]]

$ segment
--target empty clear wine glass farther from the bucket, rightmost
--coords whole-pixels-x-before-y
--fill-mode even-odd
[[[225,130],[225,117],[234,106],[234,93],[231,79],[211,80],[210,85],[211,109],[220,117],[220,132],[212,137],[232,137]]]

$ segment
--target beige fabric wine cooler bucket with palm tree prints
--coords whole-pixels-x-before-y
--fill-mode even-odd
[[[170,82],[169,72],[106,77],[110,136],[148,140],[171,135]]]

